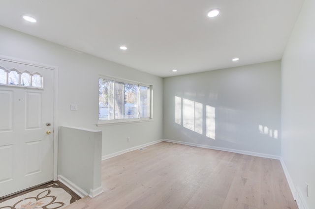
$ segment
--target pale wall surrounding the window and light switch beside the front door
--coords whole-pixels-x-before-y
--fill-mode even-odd
[[[162,138],[163,79],[0,26],[0,54],[59,67],[59,126],[103,131],[102,156]],[[98,76],[110,76],[154,86],[154,120],[96,127]],[[70,104],[78,104],[70,111]],[[130,142],[127,142],[130,137]]]

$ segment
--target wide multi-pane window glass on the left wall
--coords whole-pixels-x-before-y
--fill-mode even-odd
[[[107,78],[98,81],[99,121],[152,119],[152,86]]]

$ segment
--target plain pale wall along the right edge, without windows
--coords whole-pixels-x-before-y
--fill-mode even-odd
[[[309,209],[315,208],[314,91],[315,1],[305,0],[282,59],[282,156]]]

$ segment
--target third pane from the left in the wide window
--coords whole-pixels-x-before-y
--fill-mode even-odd
[[[125,118],[138,118],[138,85],[125,83]]]

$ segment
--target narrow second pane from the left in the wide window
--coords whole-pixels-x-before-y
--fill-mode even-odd
[[[125,92],[124,83],[115,82],[115,119],[124,119]]]

